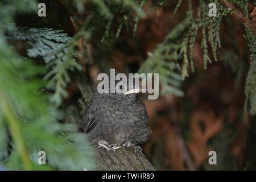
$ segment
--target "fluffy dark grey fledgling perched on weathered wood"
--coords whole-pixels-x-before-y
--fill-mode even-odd
[[[125,83],[118,88],[122,90],[123,86]],[[79,131],[87,133],[93,143],[108,150],[145,142],[151,131],[138,92],[138,86],[123,93],[94,92]]]

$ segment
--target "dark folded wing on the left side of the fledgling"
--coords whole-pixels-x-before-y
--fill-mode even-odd
[[[80,123],[80,126],[79,126],[80,132],[88,133],[96,125],[96,118],[94,117],[94,113],[95,111],[92,107],[92,103],[89,102],[87,109],[85,111],[85,115],[82,118],[82,122]]]

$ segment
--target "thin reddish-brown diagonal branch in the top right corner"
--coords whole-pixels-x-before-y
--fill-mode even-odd
[[[241,22],[244,26],[249,27],[251,31],[256,34],[256,28],[253,26],[251,21],[247,19],[245,15],[243,15],[239,10],[237,10],[232,3],[230,3],[228,0],[220,0],[220,2],[224,7],[228,8],[229,10],[233,10],[232,16]]]

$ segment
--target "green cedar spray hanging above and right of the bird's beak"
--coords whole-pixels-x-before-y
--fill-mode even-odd
[[[178,10],[182,1],[177,3],[175,12]],[[177,25],[174,30],[168,34],[163,43],[156,48],[153,53],[154,56],[148,58],[146,63],[144,63],[144,67],[148,67],[148,69],[152,69],[157,65],[163,65],[162,61],[165,64],[174,64],[174,67],[165,67],[167,69],[158,69],[158,72],[161,73],[160,82],[162,83],[163,90],[167,88],[167,92],[164,93],[174,93],[177,96],[182,96],[182,91],[179,89],[179,84],[176,82],[167,83],[167,80],[171,79],[166,78],[166,73],[171,73],[174,75],[174,71],[176,69],[176,74],[184,79],[188,77],[188,67],[190,65],[192,71],[194,72],[194,63],[193,63],[193,51],[196,41],[196,36],[200,30],[202,29],[203,38],[201,39],[201,48],[203,49],[204,56],[204,68],[207,69],[207,64],[212,63],[210,59],[210,55],[208,53],[208,42],[212,48],[212,54],[214,61],[217,61],[217,48],[220,47],[220,35],[219,29],[222,18],[228,14],[228,10],[224,9],[218,1],[213,1],[218,6],[218,14],[216,17],[208,16],[208,4],[204,1],[200,1],[200,6],[197,9],[196,17],[193,17],[193,8],[192,2],[188,1],[189,10],[187,11],[187,18],[184,19],[183,22]],[[208,32],[208,35],[207,35]],[[176,42],[175,42],[176,41]],[[166,43],[166,44],[164,44]],[[165,49],[165,50],[163,50]],[[152,62],[154,64],[150,64],[148,62]],[[159,64],[158,64],[159,63]],[[141,68],[141,72],[144,72],[144,67]],[[165,80],[166,79],[166,80]],[[167,86],[169,85],[169,86]],[[172,86],[170,86],[172,85]],[[174,89],[173,86],[176,88]],[[172,88],[172,89],[168,89]]]

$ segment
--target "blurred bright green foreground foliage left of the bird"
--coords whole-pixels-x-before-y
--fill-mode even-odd
[[[2,4],[0,11],[6,6],[16,7],[17,11],[22,7],[23,10],[31,8],[24,6],[28,1],[19,2],[22,6],[16,7],[16,1]],[[29,2],[34,3],[28,6],[37,5],[35,1]],[[12,20],[9,16],[6,23]],[[3,28],[7,27],[3,25],[0,29],[2,34]],[[32,40],[26,36],[22,39]],[[0,43],[1,163],[10,169],[93,169],[93,149],[86,136],[77,133],[75,123],[59,123],[60,111],[49,104],[48,94],[40,92],[46,82],[38,76],[46,73],[45,68],[17,55],[13,48],[7,46],[4,36],[0,37]],[[38,46],[36,43],[33,45]],[[40,53],[43,56],[43,52]],[[38,152],[41,150],[47,154],[46,167],[38,165]]]

